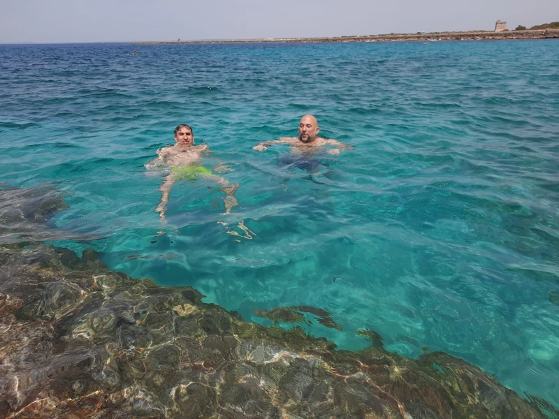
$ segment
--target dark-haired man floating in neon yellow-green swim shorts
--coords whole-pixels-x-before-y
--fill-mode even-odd
[[[220,191],[225,192],[225,213],[231,212],[231,208],[238,205],[235,198],[239,184],[230,184],[223,177],[213,175],[212,171],[201,166],[203,154],[209,154],[208,145],[194,145],[194,133],[187,124],[180,124],[175,128],[175,145],[164,147],[157,150],[157,158],[145,164],[145,168],[152,169],[157,166],[167,166],[170,168],[169,174],[165,177],[163,184],[159,187],[161,191],[161,201],[155,212],[159,212],[161,222],[165,222],[165,212],[169,200],[169,193],[173,184],[180,179],[196,180],[198,178],[207,179],[222,186]]]

